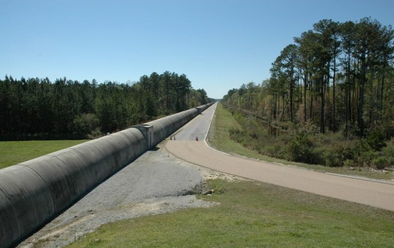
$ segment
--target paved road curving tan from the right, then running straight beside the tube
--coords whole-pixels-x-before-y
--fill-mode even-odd
[[[204,118],[212,118],[212,109],[215,107],[213,105],[208,108]],[[209,127],[204,123],[209,122],[201,119],[195,119],[197,123],[190,123],[183,132],[193,133],[192,130],[185,129],[198,126],[200,130],[205,128],[206,133]],[[166,149],[187,162],[224,173],[394,211],[394,185],[391,184],[338,177],[302,168],[228,156],[210,149],[204,141],[172,140],[166,143]]]

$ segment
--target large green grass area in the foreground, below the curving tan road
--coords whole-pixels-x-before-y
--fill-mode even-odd
[[[255,181],[214,180],[220,203],[102,225],[70,247],[392,247],[394,212]]]

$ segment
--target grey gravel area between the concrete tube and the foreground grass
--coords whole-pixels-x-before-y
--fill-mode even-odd
[[[212,206],[214,203],[196,199],[191,194],[204,190],[205,179],[215,178],[234,180],[238,177],[187,163],[163,148],[149,150],[18,247],[64,246],[104,223],[181,208]]]

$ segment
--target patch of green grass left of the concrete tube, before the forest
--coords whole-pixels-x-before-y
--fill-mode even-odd
[[[87,140],[2,141],[0,169],[61,150]]]

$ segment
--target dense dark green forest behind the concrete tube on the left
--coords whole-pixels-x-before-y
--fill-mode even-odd
[[[185,74],[169,71],[132,84],[6,75],[0,80],[0,140],[95,138],[208,101]]]

